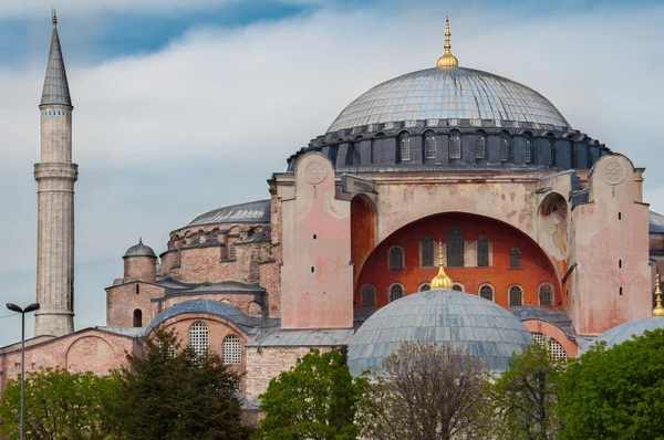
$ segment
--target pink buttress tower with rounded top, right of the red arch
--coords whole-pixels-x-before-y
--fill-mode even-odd
[[[622,155],[602,157],[589,180],[591,202],[572,211],[578,263],[570,315],[577,333],[599,335],[651,312],[649,210],[640,174]]]

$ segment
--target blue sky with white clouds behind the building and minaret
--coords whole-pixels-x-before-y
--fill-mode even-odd
[[[355,97],[434,66],[450,17],[460,65],[526,84],[645,167],[664,212],[664,2],[0,0],[0,304],[35,300],[39,101],[51,7],[74,104],[75,327],[138,237],[268,198],[267,179]],[[27,321],[27,335],[33,322]],[[20,316],[0,311],[0,345]]]

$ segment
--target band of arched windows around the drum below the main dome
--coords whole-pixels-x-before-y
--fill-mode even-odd
[[[461,161],[461,159],[468,158],[467,148],[463,147],[461,134],[452,133],[446,135],[447,137],[447,158],[450,163]],[[415,159],[414,154],[416,151],[415,139],[418,136],[412,136],[404,133],[397,137],[397,157],[396,163],[411,163]],[[439,147],[442,146],[442,136],[434,134],[425,134],[421,137],[422,156],[421,158],[426,161],[435,161],[439,156]],[[497,147],[497,157],[491,158],[492,161],[500,163],[512,163],[512,164],[528,164],[528,165],[544,165],[551,167],[571,167],[571,168],[590,168],[600,157],[599,145],[587,145],[583,143],[573,143],[571,139],[556,139],[554,136],[548,136],[544,138],[536,138],[531,135],[525,136],[508,136],[500,135],[497,139],[499,146]],[[374,140],[381,140],[374,139]],[[566,147],[559,144],[559,140],[567,143]],[[373,164],[373,160],[362,160],[362,148],[363,140],[357,139],[356,142],[347,144],[347,148],[339,148],[339,145],[333,145],[324,149],[329,157],[336,163],[336,166],[353,166],[353,165],[366,165],[366,163]],[[471,135],[473,151],[475,161],[488,161],[489,157],[489,136],[484,133]],[[539,146],[538,146],[539,145]],[[563,151],[568,151],[569,160],[566,160]],[[519,158],[517,158],[517,151],[520,151]],[[371,153],[371,151],[370,151]],[[339,157],[342,155],[343,157]],[[373,156],[373,153],[372,153]],[[559,164],[559,158],[563,157]],[[373,159],[373,157],[372,157]],[[569,163],[569,164],[568,164]]]

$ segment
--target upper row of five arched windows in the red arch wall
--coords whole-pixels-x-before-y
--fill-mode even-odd
[[[452,227],[447,230],[447,266],[464,266],[464,237],[461,227]],[[433,268],[435,243],[432,238],[426,237],[421,242],[419,265]],[[477,266],[489,266],[489,240],[486,237],[477,238]],[[391,271],[403,271],[405,269],[405,253],[400,247],[390,248],[388,265]],[[512,248],[509,252],[509,269],[521,269],[521,251]]]

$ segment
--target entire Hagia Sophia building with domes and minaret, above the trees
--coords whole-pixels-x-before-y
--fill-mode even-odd
[[[448,24],[430,69],[343,108],[263,200],[191,213],[159,254],[126,250],[106,324],[74,332],[74,107],[54,17],[25,370],[104,374],[164,327],[241,373],[250,405],[312,347],[349,345],[360,374],[425,338],[500,370],[532,341],[570,358],[619,325],[664,326],[651,316],[664,217],[643,200],[644,168],[538,92],[459,66],[449,41]],[[20,343],[0,348],[0,391],[20,370]]]

